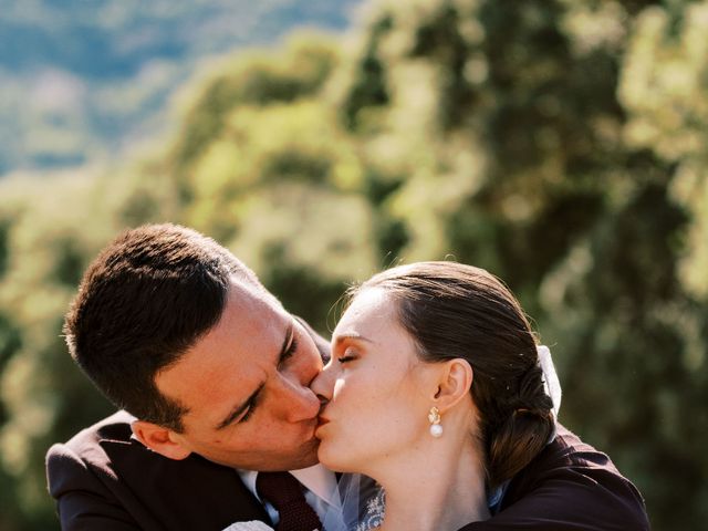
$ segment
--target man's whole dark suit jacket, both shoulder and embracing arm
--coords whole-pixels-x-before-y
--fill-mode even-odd
[[[222,530],[269,518],[230,468],[175,461],[131,438],[119,412],[49,450],[49,489],[62,529]],[[502,512],[465,531],[645,530],[644,503],[603,454],[562,429],[510,483]]]

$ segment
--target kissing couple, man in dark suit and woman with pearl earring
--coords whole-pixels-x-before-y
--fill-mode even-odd
[[[49,450],[63,530],[649,529],[482,269],[378,273],[329,343],[214,240],[150,225],[88,267],[64,333],[121,410]]]

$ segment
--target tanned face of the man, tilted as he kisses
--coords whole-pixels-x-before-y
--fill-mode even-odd
[[[155,382],[188,409],[174,434],[184,448],[226,466],[293,470],[317,462],[320,402],[309,385],[321,369],[302,325],[232,281],[217,325]]]

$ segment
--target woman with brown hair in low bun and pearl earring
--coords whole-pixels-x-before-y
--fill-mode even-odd
[[[539,352],[519,303],[485,270],[414,263],[353,290],[312,387],[326,403],[320,460],[385,491],[357,529],[489,518],[489,497],[554,437]]]

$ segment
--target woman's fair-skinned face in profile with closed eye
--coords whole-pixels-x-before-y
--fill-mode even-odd
[[[320,461],[367,473],[381,459],[402,456],[420,437],[429,438],[433,366],[418,360],[383,290],[356,295],[334,330],[332,360],[312,384],[329,399],[315,430]]]

